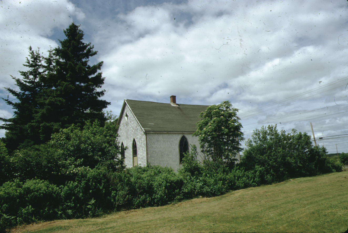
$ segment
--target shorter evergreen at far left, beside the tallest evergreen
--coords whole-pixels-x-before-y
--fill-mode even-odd
[[[38,94],[42,91],[42,74],[45,73],[44,65],[40,51],[32,50],[29,47],[29,58],[26,58],[23,66],[28,67],[27,71],[19,71],[22,76],[16,78],[11,76],[16,81],[19,91],[11,88],[5,88],[11,95],[16,98],[16,101],[2,98],[14,111],[14,116],[9,119],[0,118],[5,124],[0,128],[5,129],[5,137],[3,140],[10,150],[15,150],[20,144],[37,144],[37,130],[31,124],[35,109],[38,108]],[[47,66],[45,66],[47,67]]]

